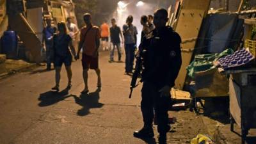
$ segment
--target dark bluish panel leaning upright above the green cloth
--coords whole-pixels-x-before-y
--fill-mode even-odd
[[[220,53],[227,47],[237,49],[241,40],[244,20],[236,13],[208,14],[196,42],[195,53]]]

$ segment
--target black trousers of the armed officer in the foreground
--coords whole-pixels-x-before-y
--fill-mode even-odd
[[[171,104],[171,97],[160,97],[156,84],[144,81],[141,90],[141,112],[145,127],[152,127],[154,110],[157,118],[157,131],[165,134],[170,130],[168,124],[168,108]]]

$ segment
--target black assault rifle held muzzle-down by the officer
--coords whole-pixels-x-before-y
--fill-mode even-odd
[[[130,85],[130,95],[129,95],[129,99],[131,99],[132,97],[132,90],[133,88],[136,88],[138,86],[137,83],[137,79],[138,79],[138,76],[140,76],[141,74],[141,68],[142,68],[142,54],[143,51],[139,51],[138,54],[136,54],[136,64],[135,64],[135,70],[134,70],[134,73],[132,75],[132,80],[131,80],[131,85]]]

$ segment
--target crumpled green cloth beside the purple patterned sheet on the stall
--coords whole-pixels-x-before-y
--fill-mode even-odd
[[[226,49],[220,54],[198,54],[195,56],[195,60],[187,67],[188,76],[191,78],[195,77],[196,72],[207,72],[208,70],[212,70],[216,68],[213,65],[213,62],[222,58],[223,56],[227,56],[228,54],[232,54],[234,51],[232,49]]]

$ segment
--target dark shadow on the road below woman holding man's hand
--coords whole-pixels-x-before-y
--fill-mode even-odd
[[[38,100],[40,100],[40,103],[38,106],[44,107],[44,106],[51,106],[52,104],[56,104],[60,102],[61,100],[65,100],[68,97],[72,97],[72,95],[68,95],[68,90],[62,90],[61,92],[52,92],[48,91],[45,93],[41,93]]]

